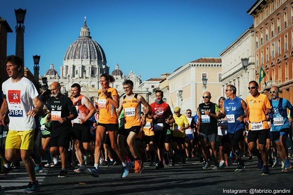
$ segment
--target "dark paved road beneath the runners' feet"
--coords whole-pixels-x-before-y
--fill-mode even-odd
[[[247,158],[244,158],[247,159]],[[292,160],[291,160],[292,161]],[[143,173],[134,174],[132,170],[126,178],[120,178],[121,166],[100,166],[100,177],[87,176],[85,173],[74,173],[68,169],[69,176],[58,178],[60,167],[44,168],[37,173],[41,184],[39,195],[228,195],[224,190],[271,190],[287,189],[287,195],[293,194],[293,169],[281,172],[281,167],[271,168],[270,176],[261,176],[262,171],[256,169],[257,158],[246,162],[243,172],[234,172],[236,165],[224,170],[202,170],[203,163],[193,159],[186,164],[174,167],[165,166],[164,170],[146,166]],[[0,185],[6,195],[23,194],[28,184],[28,176],[24,167],[0,176]],[[80,184],[84,183],[84,184]],[[292,189],[291,189],[292,188]],[[235,194],[230,191],[230,194]],[[269,193],[268,193],[269,194]]]

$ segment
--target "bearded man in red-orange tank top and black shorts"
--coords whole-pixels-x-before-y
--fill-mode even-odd
[[[88,98],[81,95],[81,86],[78,83],[71,86],[71,94],[73,97],[71,100],[78,114],[73,120],[72,140],[76,158],[80,163],[80,167],[74,172],[81,173],[85,171],[82,150],[90,154],[95,152],[95,147],[90,145],[90,118],[96,113],[96,109]]]

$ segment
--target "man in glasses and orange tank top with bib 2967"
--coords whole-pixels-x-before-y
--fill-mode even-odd
[[[141,131],[142,122],[145,122],[150,106],[144,97],[133,93],[133,82],[131,80],[125,80],[122,85],[126,96],[120,99],[118,115],[124,109],[125,131],[129,132],[127,144],[135,162],[134,172],[141,173],[144,170],[144,165],[137,150],[135,139]],[[146,107],[146,115],[144,116],[141,116],[141,104]]]

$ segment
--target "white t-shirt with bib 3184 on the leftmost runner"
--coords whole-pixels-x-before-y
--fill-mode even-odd
[[[2,83],[2,92],[6,96],[9,109],[9,130],[29,131],[35,129],[35,118],[26,116],[30,110],[34,109],[32,99],[39,96],[34,84],[25,77],[14,83],[11,78],[8,78]]]

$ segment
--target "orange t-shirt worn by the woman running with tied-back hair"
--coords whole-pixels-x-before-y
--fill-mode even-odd
[[[107,92],[107,96],[109,98],[112,98],[113,96],[118,96],[117,90],[112,87],[109,87],[107,89]],[[98,108],[100,109],[99,123],[118,124],[116,108],[112,104],[110,104],[106,97],[104,97],[104,94],[102,94],[102,89],[99,89],[98,94]]]

